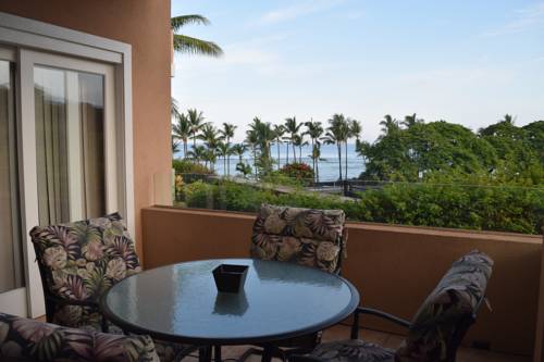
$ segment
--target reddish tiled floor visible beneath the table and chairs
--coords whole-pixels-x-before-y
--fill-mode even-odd
[[[346,339],[348,338],[348,336],[349,336],[348,327],[336,326],[325,330],[325,333],[323,334],[323,341]],[[401,336],[391,335],[375,330],[368,330],[368,329],[362,329],[360,337],[363,338],[364,340],[375,342],[381,346],[390,348],[397,348],[400,341],[403,340]],[[223,347],[222,358],[236,359],[247,349],[248,346]],[[260,357],[258,355],[254,355],[247,360],[247,362],[259,362],[259,361]],[[461,348],[457,353],[457,361],[458,362],[530,362],[531,358],[494,353],[472,348]],[[276,360],[274,360],[274,362],[276,362]]]

